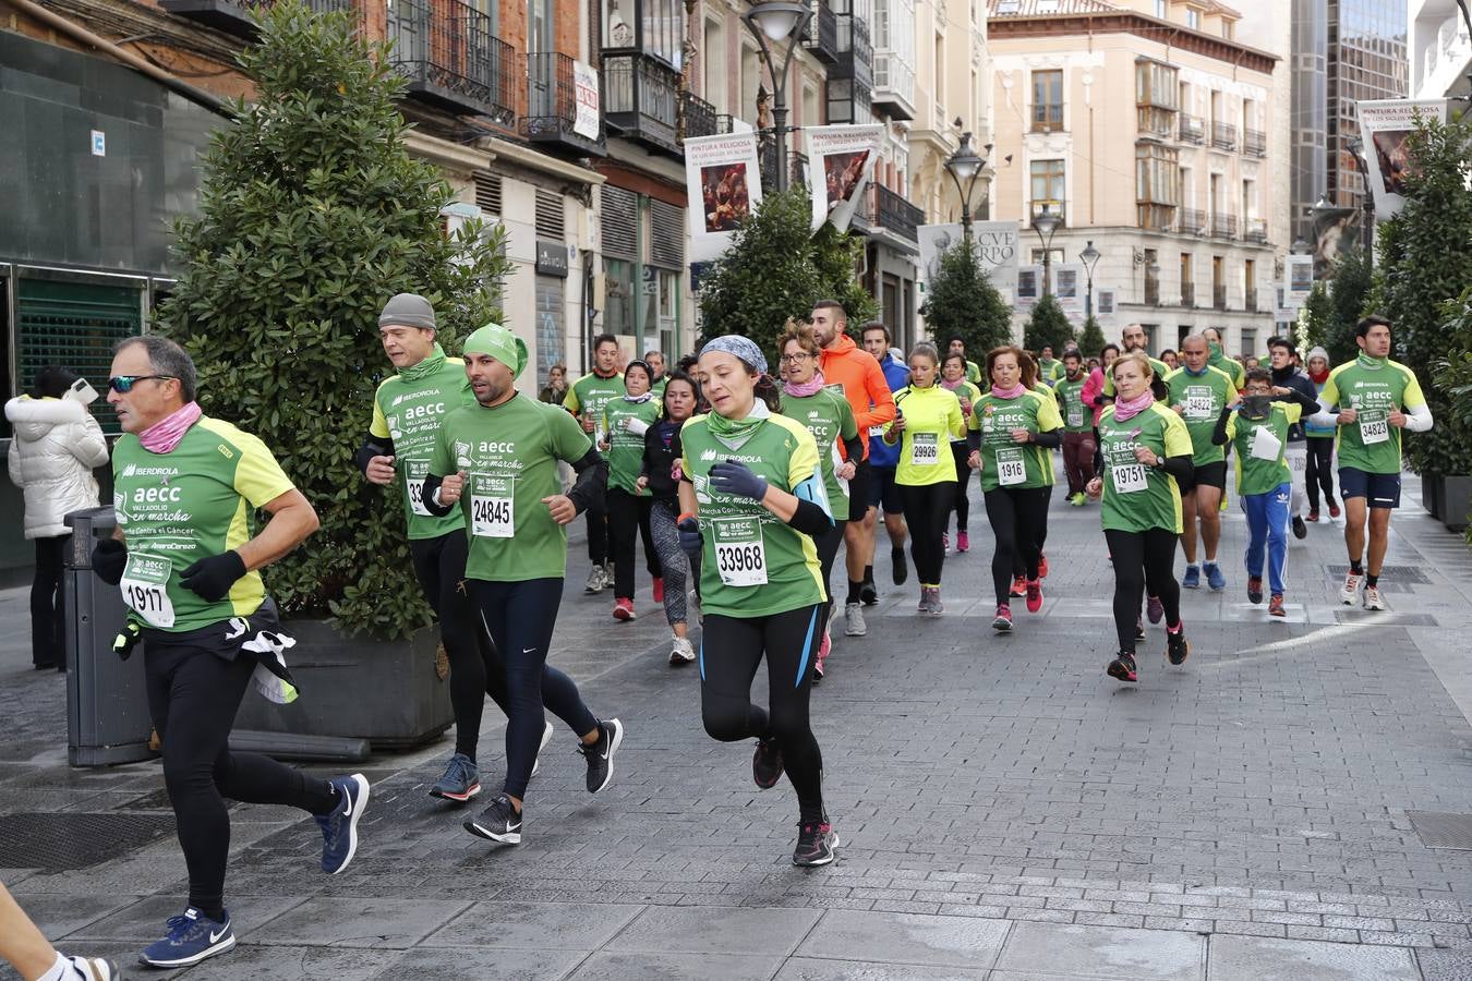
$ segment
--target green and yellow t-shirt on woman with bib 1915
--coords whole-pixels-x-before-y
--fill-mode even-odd
[[[1114,418],[1114,406],[1100,413],[1100,453],[1104,456],[1104,502],[1100,515],[1105,531],[1164,528],[1181,534],[1181,487],[1167,471],[1135,459],[1145,446],[1160,457],[1191,453],[1191,434],[1175,412],[1153,403],[1128,422]]]

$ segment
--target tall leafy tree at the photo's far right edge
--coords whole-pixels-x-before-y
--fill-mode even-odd
[[[1406,204],[1379,229],[1372,307],[1394,325],[1397,360],[1420,372],[1437,421],[1431,432],[1406,437],[1406,460],[1422,475],[1472,474],[1472,427],[1451,412],[1447,388],[1428,379],[1434,365],[1460,356],[1451,350],[1443,304],[1472,287],[1469,137],[1465,119],[1418,121],[1406,140]]]

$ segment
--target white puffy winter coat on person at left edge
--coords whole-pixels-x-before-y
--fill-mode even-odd
[[[25,491],[25,537],[69,535],[68,512],[97,507],[93,468],[107,462],[107,440],[87,407],[71,399],[21,396],[4,406],[15,428],[10,482]]]

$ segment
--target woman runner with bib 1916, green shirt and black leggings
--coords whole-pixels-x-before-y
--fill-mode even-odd
[[[1041,543],[1047,534],[1052,493],[1052,447],[1063,443],[1063,419],[1052,390],[1029,390],[1026,381],[1036,366],[1020,347],[998,347],[986,354],[991,387],[972,406],[969,466],[980,471],[986,519],[997,550],[992,553],[992,585],[997,615],[992,628],[1013,628],[1011,585],[1022,569],[1027,612],[1042,609]]]

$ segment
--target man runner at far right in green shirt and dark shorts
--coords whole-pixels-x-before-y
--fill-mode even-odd
[[[1354,334],[1360,356],[1329,372],[1313,422],[1334,424],[1340,431],[1340,494],[1344,497],[1344,546],[1350,553],[1350,572],[1340,600],[1353,606],[1363,582],[1365,609],[1382,610],[1381,563],[1390,541],[1390,512],[1400,506],[1400,431],[1425,432],[1432,419],[1416,374],[1390,360],[1390,321],[1367,316]]]

